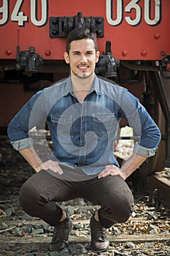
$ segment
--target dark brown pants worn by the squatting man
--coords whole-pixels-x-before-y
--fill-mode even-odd
[[[32,217],[56,225],[62,216],[57,202],[84,198],[101,206],[99,221],[104,227],[126,222],[133,211],[134,197],[120,176],[91,178],[86,181],[64,181],[45,170],[35,173],[20,189],[20,204]]]

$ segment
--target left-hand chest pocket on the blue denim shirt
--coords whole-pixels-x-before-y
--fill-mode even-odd
[[[73,137],[72,116],[51,115],[51,121],[59,137]]]

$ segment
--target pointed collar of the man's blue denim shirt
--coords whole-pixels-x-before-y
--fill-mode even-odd
[[[97,78],[97,76],[95,75],[94,76],[94,80],[93,80],[93,86],[92,88],[90,89],[90,92],[93,92],[95,91],[96,94],[100,95],[101,94],[101,88],[100,88],[100,83],[99,83],[99,80]],[[64,96],[68,95],[68,94],[72,94],[72,80],[71,80],[71,77],[69,77],[67,80],[66,80],[66,87],[65,87],[65,94]]]

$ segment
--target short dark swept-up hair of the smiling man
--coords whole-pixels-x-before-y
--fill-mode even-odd
[[[77,29],[74,29],[70,32],[69,36],[66,39],[66,52],[69,53],[70,50],[70,44],[72,41],[75,40],[81,40],[81,39],[92,39],[94,42],[95,50],[98,50],[96,37],[93,33],[90,33],[90,30],[85,27],[80,27]]]

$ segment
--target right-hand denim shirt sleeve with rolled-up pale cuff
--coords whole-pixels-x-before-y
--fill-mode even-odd
[[[122,97],[123,118],[134,129],[134,135],[139,136],[139,141],[134,146],[134,153],[144,157],[152,157],[158,149],[161,132],[150,114],[128,91],[123,91]]]

